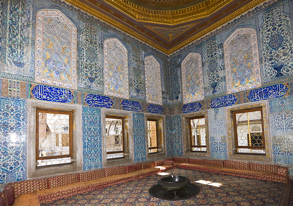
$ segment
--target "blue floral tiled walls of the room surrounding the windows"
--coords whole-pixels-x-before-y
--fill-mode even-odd
[[[0,5],[0,183],[26,178],[27,108],[25,99],[84,105],[82,112],[84,170],[102,167],[101,131],[97,129],[101,127],[100,108],[134,112],[135,162],[146,160],[144,113],[166,115],[167,154],[183,155],[180,114],[208,110],[211,157],[227,159],[224,107],[268,99],[272,145],[275,150],[273,161],[276,164],[292,167],[292,1],[265,1],[261,6],[253,8],[169,57],[61,0],[0,0]],[[63,20],[67,21],[67,25],[72,24],[71,29],[76,28],[76,42],[69,42],[70,45],[77,46],[76,62],[74,62],[74,56],[68,54],[69,43],[67,48],[62,44],[64,48],[60,47],[58,52],[62,54],[66,52],[70,56],[71,68],[75,68],[72,63],[76,63],[77,87],[71,87],[68,82],[67,88],[54,84],[58,78],[64,83],[66,75],[71,73],[67,68],[69,56],[59,61],[61,63],[58,66],[58,74],[51,75],[49,70],[44,69],[51,85],[43,84],[42,78],[37,77],[39,74],[36,73],[35,67],[42,66],[38,62],[39,59],[47,62],[47,66],[51,66],[50,69],[52,69],[56,66],[52,65],[56,57],[54,55],[57,55],[54,53],[51,55],[50,52],[55,47],[51,45],[54,42],[48,40],[45,40],[45,49],[35,49],[41,48],[41,45],[38,47],[34,36],[37,35],[35,24],[37,11],[41,9],[44,11],[58,9],[66,16],[67,20],[65,18]],[[50,25],[48,22],[52,20],[48,18],[45,27]],[[237,61],[252,58],[255,63],[253,65],[259,63],[261,87],[258,87],[259,84],[254,80],[255,85],[258,84],[257,87],[248,88],[245,91],[237,90],[236,93],[229,94],[226,86],[223,45],[231,35],[233,36],[233,32],[241,28],[255,31],[257,47],[253,48],[251,53],[254,52],[253,55],[257,55],[259,61],[255,62],[257,59],[253,58],[251,53],[247,56],[247,51],[244,52],[243,49],[243,51],[237,51],[240,52]],[[104,83],[103,43],[107,39],[114,38],[121,42],[121,48],[125,47],[126,52],[123,52],[125,55],[123,58],[124,60],[127,58],[128,61],[126,66],[128,66],[129,97],[104,95],[104,86],[108,83]],[[251,42],[253,42],[252,38]],[[43,56],[38,54],[40,51],[44,52]],[[235,53],[236,50],[233,52]],[[181,63],[189,53],[198,53],[202,58],[204,99],[183,105]],[[147,56],[153,56],[158,61],[157,69],[161,81],[161,89],[154,95],[157,95],[159,101],[151,102],[151,104],[147,103],[146,97],[147,94],[151,94],[146,91],[146,80],[151,78],[144,70],[144,58]],[[36,57],[40,58],[36,59]],[[236,62],[232,59],[231,61]],[[251,63],[250,60],[247,65],[240,64],[236,71],[230,72],[229,78],[243,81],[242,85],[247,83],[246,80],[256,78],[258,75],[255,71],[253,77],[249,70],[252,68]],[[118,71],[120,64],[122,61],[116,65]],[[248,73],[246,73],[247,68]],[[241,75],[249,78],[242,79],[239,77]],[[44,76],[45,74],[42,74],[43,78]],[[73,85],[73,76],[74,74],[70,78],[71,85]],[[110,72],[106,76],[113,77],[110,76]],[[38,79],[40,81],[36,83]],[[117,86],[113,88],[117,89],[116,92],[124,92],[121,88],[123,92],[118,89],[119,78],[113,78],[113,83]],[[108,88],[113,85],[111,83]],[[11,122],[17,124],[18,127],[16,128]],[[5,131],[7,128],[9,128],[8,133]],[[293,175],[293,168],[290,168],[290,174]]]

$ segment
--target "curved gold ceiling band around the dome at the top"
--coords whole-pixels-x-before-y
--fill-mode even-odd
[[[128,0],[104,0],[114,8],[122,11],[139,22],[176,25],[205,18],[234,0],[207,0],[195,6],[174,10],[156,11],[137,6]]]

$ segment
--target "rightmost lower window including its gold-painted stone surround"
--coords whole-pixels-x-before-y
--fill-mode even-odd
[[[228,159],[272,162],[268,101],[226,107]]]

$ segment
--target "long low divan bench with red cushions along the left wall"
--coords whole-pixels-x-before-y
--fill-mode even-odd
[[[0,206],[40,206],[40,203],[43,202],[174,169],[179,164],[163,165],[164,160],[139,162],[8,183],[0,193],[5,202],[5,204],[1,205],[0,199]],[[168,161],[168,159],[166,160]],[[166,163],[169,164],[169,162]]]

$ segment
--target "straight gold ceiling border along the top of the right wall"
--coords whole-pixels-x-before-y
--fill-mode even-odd
[[[234,11],[233,13],[229,14],[228,16],[222,18],[218,22],[214,23],[213,25],[209,26],[208,28],[202,30],[201,32],[197,33],[196,35],[190,37],[188,40],[185,40],[184,42],[178,44],[176,47],[173,47],[172,49],[168,50],[168,55],[175,52],[176,50],[180,49],[181,47],[186,46],[187,44],[190,44],[191,42],[197,40],[198,38],[202,37],[203,35],[212,32],[213,30],[217,29],[219,26],[233,20],[237,16],[240,16],[241,14],[245,13],[246,11],[252,9],[253,7],[257,6],[258,4],[261,4],[267,0],[256,0],[251,1],[250,3],[246,4],[245,6],[239,8],[237,11]]]

